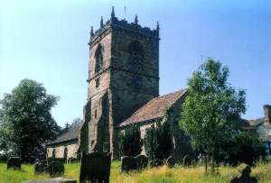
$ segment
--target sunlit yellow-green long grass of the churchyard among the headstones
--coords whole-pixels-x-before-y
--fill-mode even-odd
[[[120,172],[120,163],[115,161],[112,164],[110,182],[229,182],[231,178],[238,176],[238,169],[231,167],[220,167],[220,174],[216,176],[205,176],[202,166],[193,168],[176,167],[168,169],[160,167],[157,169],[145,169],[142,172],[131,174],[122,174]],[[271,164],[258,164],[252,169],[252,176],[257,177],[259,182],[271,183]],[[70,164],[65,166],[64,178],[76,178],[79,180],[79,164]],[[0,163],[0,183],[19,183],[29,179],[49,178],[48,175],[34,175],[33,165],[24,164],[22,170],[6,170],[6,164]]]

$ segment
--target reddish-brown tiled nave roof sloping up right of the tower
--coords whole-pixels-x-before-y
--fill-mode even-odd
[[[171,94],[153,98],[145,105],[137,109],[135,113],[127,118],[124,122],[119,124],[119,127],[163,117],[164,111],[171,107],[178,99],[184,96],[186,91],[186,89],[182,89]]]

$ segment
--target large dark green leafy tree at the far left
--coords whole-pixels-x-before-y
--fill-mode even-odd
[[[26,162],[44,157],[46,142],[60,132],[51,116],[51,108],[58,100],[31,79],[23,79],[11,94],[5,94],[0,101],[0,133],[8,139],[5,150]]]

